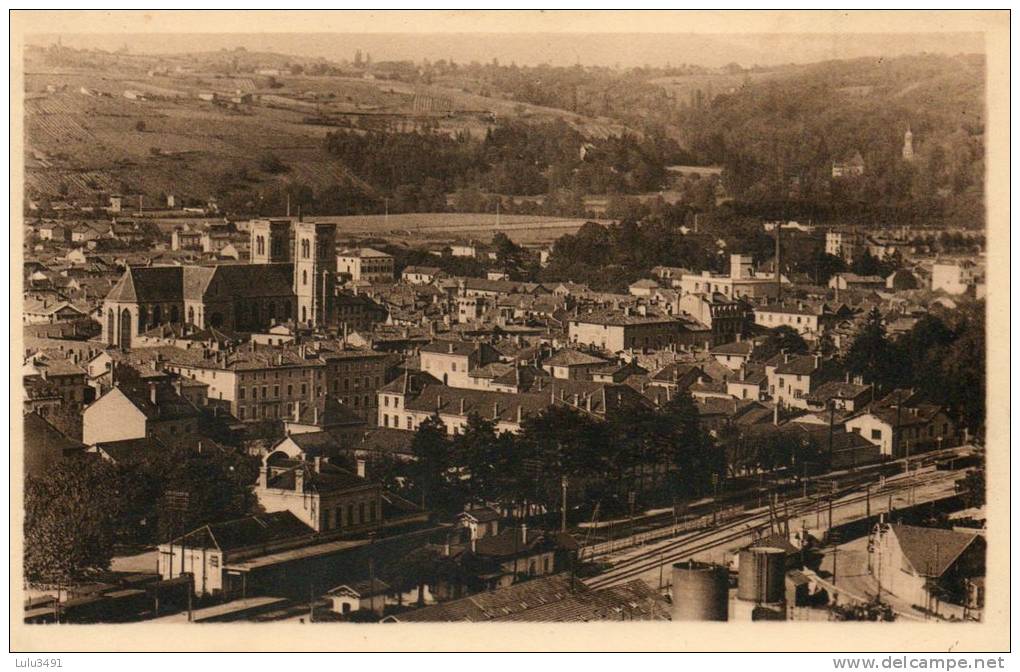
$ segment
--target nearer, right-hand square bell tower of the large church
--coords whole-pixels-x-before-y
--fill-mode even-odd
[[[305,327],[329,324],[337,271],[337,225],[294,222],[294,294],[297,322]]]

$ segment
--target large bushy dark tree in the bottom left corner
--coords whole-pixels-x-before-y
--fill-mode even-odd
[[[105,570],[120,506],[113,465],[98,456],[65,460],[45,478],[30,476],[24,498],[24,574],[67,583]]]

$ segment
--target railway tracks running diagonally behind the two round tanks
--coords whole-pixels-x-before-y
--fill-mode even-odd
[[[956,479],[959,474],[955,472],[941,472],[938,474],[926,473],[921,476],[910,476],[886,483],[885,486],[877,489],[871,497],[880,495],[891,495],[909,489],[918,484],[930,485],[949,479]],[[869,496],[855,495],[833,503],[833,509],[839,509],[854,504],[864,502]],[[793,518],[805,514],[814,514],[828,506],[827,501],[821,502],[813,500],[810,502],[787,503],[786,514]],[[752,513],[747,518],[727,522],[709,529],[694,532],[681,538],[669,541],[663,546],[649,550],[646,553],[638,554],[631,558],[621,560],[609,571],[592,577],[585,584],[593,588],[608,587],[635,578],[641,574],[652,571],[660,564],[671,563],[691,557],[694,554],[708,551],[715,547],[729,544],[743,536],[751,534],[755,527],[768,521],[768,510]],[[720,535],[721,534],[721,535]]]

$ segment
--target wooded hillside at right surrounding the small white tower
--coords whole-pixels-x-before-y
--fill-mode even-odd
[[[984,60],[905,56],[792,68],[683,115],[730,195],[818,217],[983,222]],[[914,156],[905,160],[905,134]],[[860,153],[863,174],[834,178]],[[902,221],[895,223],[904,223]]]

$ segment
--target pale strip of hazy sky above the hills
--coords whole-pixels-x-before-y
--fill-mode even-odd
[[[921,52],[982,53],[980,33],[258,33],[258,34],[73,34],[62,44],[86,49],[172,54],[244,47],[334,61],[351,60],[357,50],[372,60],[439,60],[518,65],[605,65],[632,67],[682,63],[717,67],[736,62],[745,67],[809,63],[862,56],[900,56]],[[55,34],[27,37],[29,44],[48,45]]]

